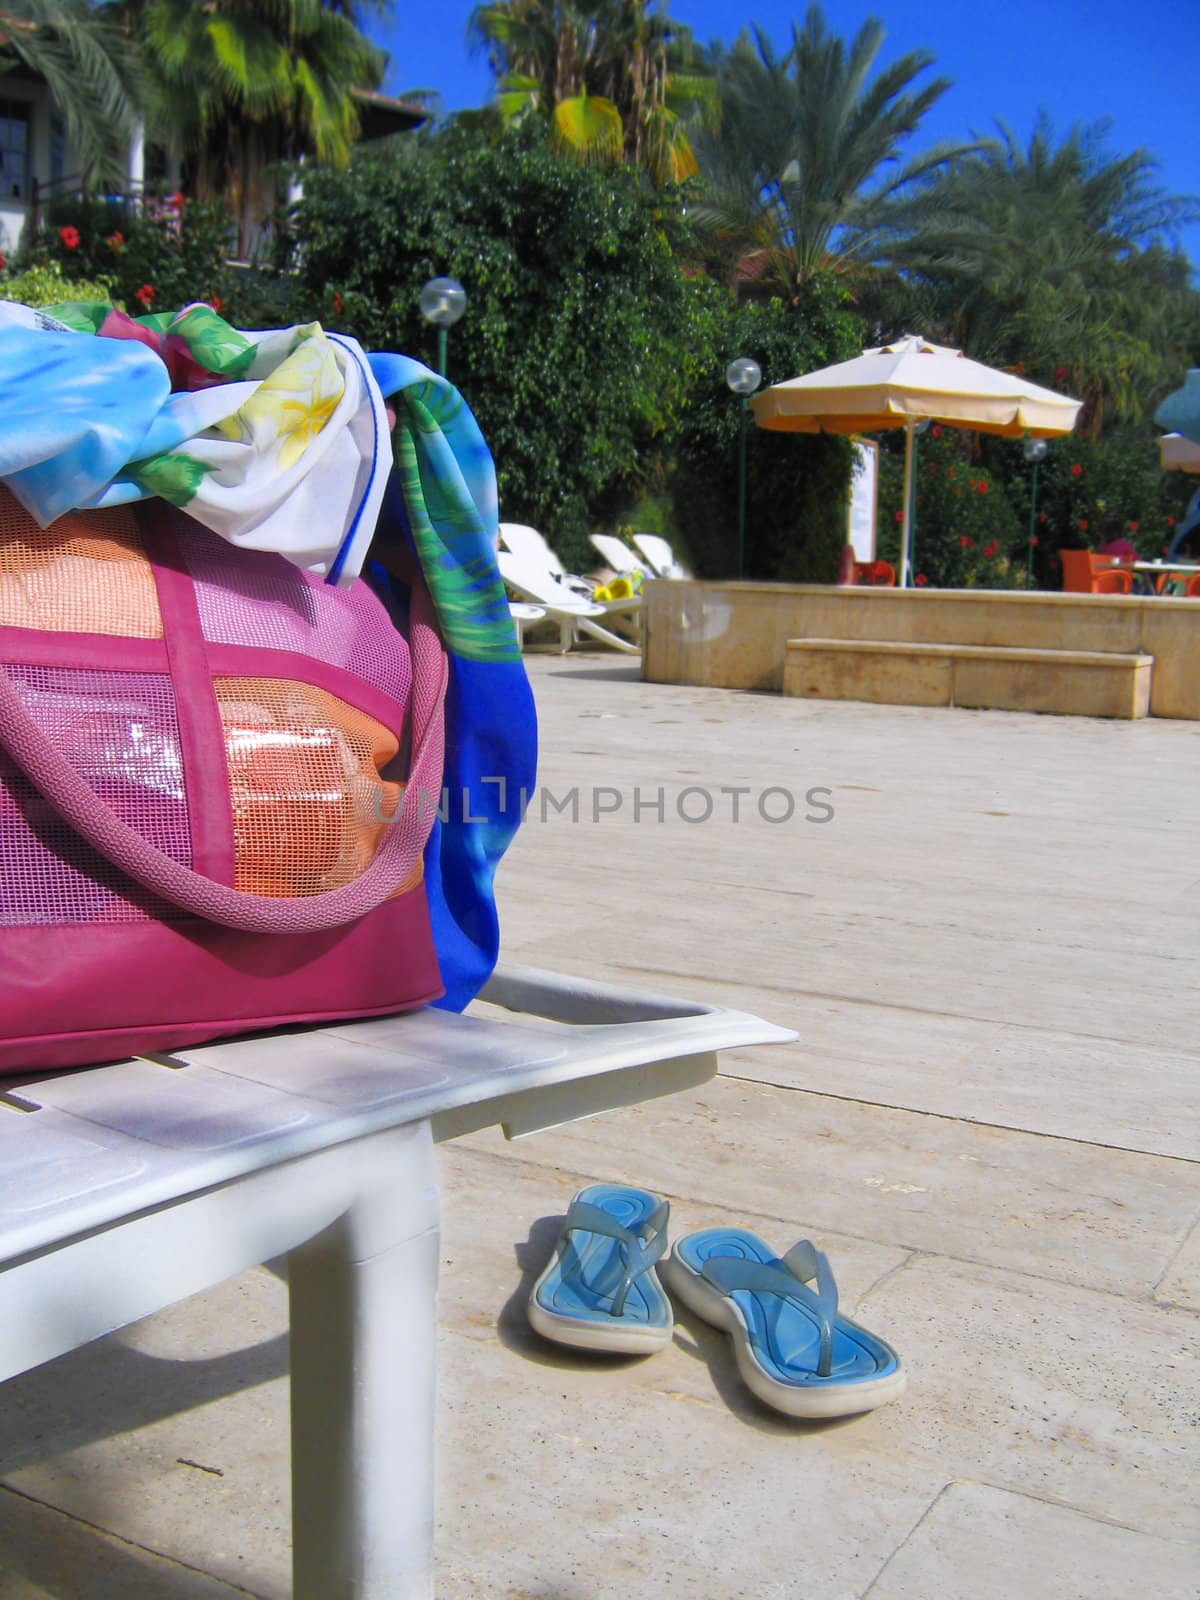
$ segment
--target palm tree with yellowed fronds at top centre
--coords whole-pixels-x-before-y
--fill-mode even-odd
[[[630,162],[659,186],[694,174],[683,118],[704,77],[688,29],[650,0],[488,0],[469,29],[506,120],[544,115],[565,154]]]

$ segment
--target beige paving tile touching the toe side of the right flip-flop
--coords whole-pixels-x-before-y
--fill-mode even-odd
[[[867,1421],[888,1454],[1200,1539],[1200,1318],[917,1258],[859,1307],[904,1354],[909,1392]]]

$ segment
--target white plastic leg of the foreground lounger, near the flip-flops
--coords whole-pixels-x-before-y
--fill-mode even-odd
[[[434,1146],[368,1144],[360,1198],[288,1258],[294,1600],[434,1594]]]

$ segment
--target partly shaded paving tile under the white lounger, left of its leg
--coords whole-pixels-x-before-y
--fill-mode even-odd
[[[0,1477],[123,1541],[286,1600],[285,1374],[286,1290],[269,1272],[243,1274],[6,1384]]]

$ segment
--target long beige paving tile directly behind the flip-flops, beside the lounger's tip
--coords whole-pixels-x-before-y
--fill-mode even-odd
[[[808,1232],[1134,1296],[1168,1269],[1200,1205],[1200,1171],[1186,1162],[728,1077],[533,1139],[466,1142]]]

